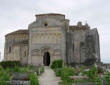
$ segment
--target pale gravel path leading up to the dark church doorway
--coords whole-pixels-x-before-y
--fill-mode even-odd
[[[45,67],[45,72],[39,76],[40,85],[58,85],[60,78],[55,76],[55,73],[49,67]]]

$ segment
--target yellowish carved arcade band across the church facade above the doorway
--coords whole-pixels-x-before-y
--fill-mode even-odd
[[[32,43],[60,43],[61,42],[61,33],[33,33],[32,34]]]

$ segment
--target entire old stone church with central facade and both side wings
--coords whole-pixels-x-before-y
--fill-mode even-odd
[[[69,25],[65,15],[50,13],[36,15],[27,30],[17,30],[5,36],[5,61],[49,66],[56,59],[67,64],[94,59],[100,62],[97,29],[81,22]]]

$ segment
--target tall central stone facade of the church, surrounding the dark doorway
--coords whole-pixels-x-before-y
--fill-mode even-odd
[[[69,25],[65,17],[58,17],[60,16],[38,16],[29,25],[29,64],[43,65],[46,51],[50,53],[51,62],[55,59],[66,61],[66,27]],[[44,49],[46,50],[42,52]]]

